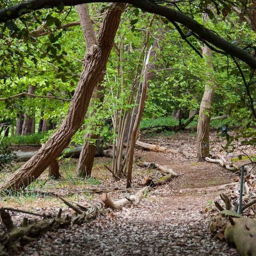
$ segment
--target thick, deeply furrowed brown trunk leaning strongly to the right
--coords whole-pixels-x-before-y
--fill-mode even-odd
[[[92,54],[86,54],[85,56],[85,68],[80,76],[74,98],[70,102],[65,121],[38,150],[37,154],[0,185],[0,191],[5,189],[17,190],[28,186],[68,146],[71,138],[83,123],[94,87],[99,82],[102,70],[105,70],[116,33],[113,27],[119,24],[124,6],[123,3],[115,3],[106,12],[99,33],[98,46],[95,47]]]

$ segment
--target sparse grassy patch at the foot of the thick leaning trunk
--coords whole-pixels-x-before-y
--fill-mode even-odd
[[[67,195],[64,195],[64,197],[70,202],[79,201],[81,198],[86,198],[91,201],[93,195],[86,191],[86,188],[88,186],[101,184],[101,180],[93,177],[89,179],[76,178],[76,165],[77,163],[73,159],[63,159],[60,162],[60,179],[54,180],[49,178],[49,174],[45,171],[38,179],[30,183],[25,190],[15,192],[6,191],[6,193],[0,195],[0,200],[3,202],[4,207],[23,207],[26,205],[26,208],[33,209],[38,205],[40,205],[40,207],[50,205],[59,206],[62,204],[60,199],[47,195],[47,192],[58,194],[59,192],[61,193],[61,191],[65,193],[68,191]],[[10,171],[4,171],[0,174],[1,182],[10,175]],[[44,192],[46,192],[46,194],[44,194]]]

